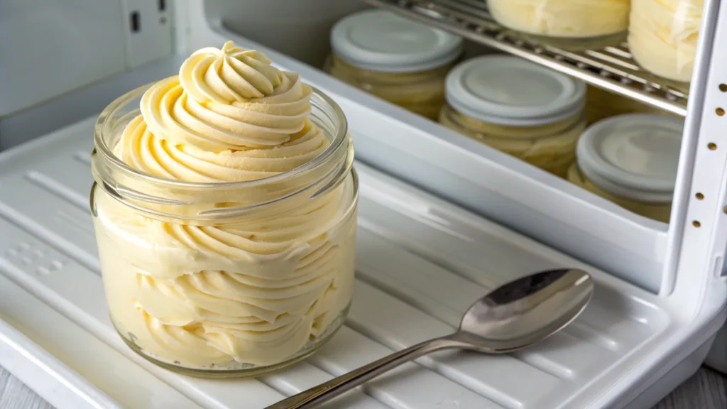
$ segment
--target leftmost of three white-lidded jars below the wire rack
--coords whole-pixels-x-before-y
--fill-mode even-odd
[[[444,79],[462,38],[383,10],[358,12],[331,31],[326,71],[430,119],[444,103]]]

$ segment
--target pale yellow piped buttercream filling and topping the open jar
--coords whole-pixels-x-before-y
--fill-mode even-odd
[[[297,74],[274,68],[260,52],[232,42],[204,48],[179,76],[145,92],[141,115],[114,153],[170,180],[278,175],[329,146],[308,118],[310,95]],[[271,193],[263,184],[239,200],[256,202],[258,194]],[[354,196],[348,178],[313,199],[209,226],[149,218],[101,191],[97,240],[114,324],[157,359],[190,368],[276,365],[294,356],[350,302]]]

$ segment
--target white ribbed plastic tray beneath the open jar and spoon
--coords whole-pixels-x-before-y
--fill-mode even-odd
[[[714,322],[680,323],[664,298],[358,164],[358,280],[347,325],[280,373],[236,381],[175,375],[131,352],[107,317],[88,206],[94,121],[0,155],[0,318],[24,334],[0,326],[9,351],[0,365],[59,408],[78,406],[28,375],[39,365],[79,399],[100,402],[90,407],[113,399],[130,408],[262,408],[448,333],[493,285],[555,266],[587,269],[597,282],[593,302],[562,333],[512,355],[434,354],[328,407],[620,408],[639,396],[653,404],[675,384],[643,392],[684,360],[671,383],[693,373],[706,354],[698,347],[716,330]],[[693,335],[702,338],[687,340]],[[41,353],[18,364],[39,351],[29,340],[63,363]],[[80,376],[64,375],[68,368]],[[83,378],[94,386],[79,388]]]

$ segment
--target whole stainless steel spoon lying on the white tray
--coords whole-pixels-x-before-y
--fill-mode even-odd
[[[526,348],[578,317],[592,295],[593,279],[577,269],[543,271],[516,279],[473,303],[456,333],[394,352],[267,409],[315,408],[403,363],[441,349],[502,354]]]

